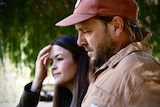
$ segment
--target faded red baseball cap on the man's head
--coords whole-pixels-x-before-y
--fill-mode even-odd
[[[74,25],[94,16],[137,19],[138,5],[135,0],[77,0],[73,14],[56,23],[56,26]]]

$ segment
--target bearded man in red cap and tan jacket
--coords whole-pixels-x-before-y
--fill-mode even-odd
[[[137,18],[134,0],[77,0],[56,24],[75,25],[78,45],[98,68],[82,107],[160,107],[160,64]]]

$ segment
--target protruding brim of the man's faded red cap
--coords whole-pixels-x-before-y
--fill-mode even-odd
[[[71,26],[76,23],[83,22],[87,19],[90,19],[94,16],[95,15],[91,15],[91,14],[75,14],[74,13],[74,14],[64,18],[63,20],[57,22],[55,25],[56,26]]]

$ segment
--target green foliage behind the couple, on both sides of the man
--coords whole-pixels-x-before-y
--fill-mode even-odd
[[[153,36],[153,55],[160,59],[160,2],[136,0],[139,19]],[[0,58],[6,54],[16,65],[24,63],[34,71],[39,50],[62,34],[76,34],[74,27],[55,27],[72,13],[75,0],[0,0]],[[32,72],[34,74],[34,72]]]

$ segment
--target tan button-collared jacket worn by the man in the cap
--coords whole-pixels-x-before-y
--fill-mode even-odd
[[[82,107],[160,107],[160,64],[151,45],[132,43],[94,73]]]

